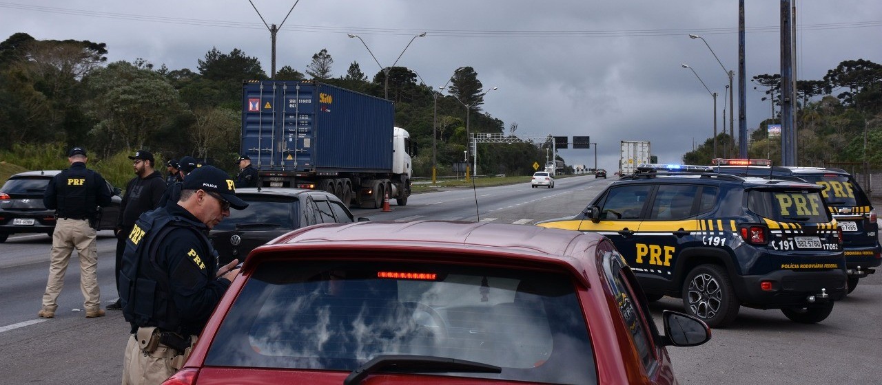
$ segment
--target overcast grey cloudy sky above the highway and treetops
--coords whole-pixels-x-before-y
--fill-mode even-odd
[[[297,0],[252,0],[267,24],[280,25]],[[878,0],[794,0],[797,76],[821,79],[844,60],[882,63],[882,3]],[[780,72],[781,2],[745,1],[747,127],[771,114],[750,79]],[[453,70],[475,68],[487,95],[484,110],[519,125],[517,134],[588,135],[598,143],[598,167],[617,169],[620,141],[650,141],[662,163],[676,163],[713,135],[718,92],[722,129],[728,77],[736,71],[736,0],[300,0],[281,26],[276,68],[301,72],[327,48],[333,76],[359,62],[373,76],[390,66],[415,70],[426,84],[445,84]],[[157,67],[196,70],[217,47],[258,57],[271,68],[270,34],[248,0],[0,1],[0,40],[28,33],[38,40],[108,44],[110,62],[144,58]],[[728,98],[728,97],[727,97]],[[727,117],[727,125],[728,125]],[[738,122],[735,124],[736,134]],[[594,166],[594,149],[562,149],[566,163]]]

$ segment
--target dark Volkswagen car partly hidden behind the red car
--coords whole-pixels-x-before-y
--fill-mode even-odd
[[[355,222],[346,205],[333,193],[270,187],[239,188],[235,196],[248,202],[248,207],[230,210],[229,217],[208,235],[221,265],[234,258],[243,262],[254,248],[294,229],[318,223]]]

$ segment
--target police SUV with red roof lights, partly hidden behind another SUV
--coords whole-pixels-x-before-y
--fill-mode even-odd
[[[847,171],[829,167],[773,167],[772,161],[766,159],[720,158],[713,163],[717,172],[760,178],[796,177],[824,187],[821,194],[827,210],[842,229],[848,293],[855,290],[859,279],[876,272],[873,267],[882,265],[876,209]]]

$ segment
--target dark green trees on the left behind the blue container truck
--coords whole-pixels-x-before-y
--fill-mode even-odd
[[[243,81],[269,79],[257,58],[238,48],[223,53],[213,47],[194,71],[157,67],[141,58],[108,62],[107,54],[104,43],[35,40],[27,33],[0,42],[0,132],[6,139],[0,141],[0,155],[30,154],[35,146],[51,144],[63,160],[63,149],[78,145],[89,149],[90,162],[119,158],[125,163],[126,155],[149,149],[162,159],[190,155],[235,171]],[[312,55],[304,72],[285,65],[275,79],[317,80],[384,98],[389,76],[395,124],[405,127],[420,149],[415,176],[431,175],[436,101],[438,175],[452,175],[452,164],[464,160],[464,105],[472,105],[471,132],[505,132],[501,120],[482,111],[483,86],[468,66],[453,71],[445,93],[405,67],[378,70],[369,79],[358,62],[351,62],[343,75],[333,76],[333,57],[326,49]],[[510,134],[516,130],[512,123]],[[538,143],[481,145],[479,171],[530,175],[533,163],[544,163],[545,156]],[[131,178],[125,167],[124,178]]]

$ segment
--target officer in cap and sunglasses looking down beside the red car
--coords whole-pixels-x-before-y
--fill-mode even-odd
[[[248,207],[234,186],[226,172],[202,166],[183,180],[176,204],[141,214],[132,228],[120,275],[132,333],[123,384],[160,383],[174,374],[238,274],[236,259],[217,265],[205,236],[230,207]]]

